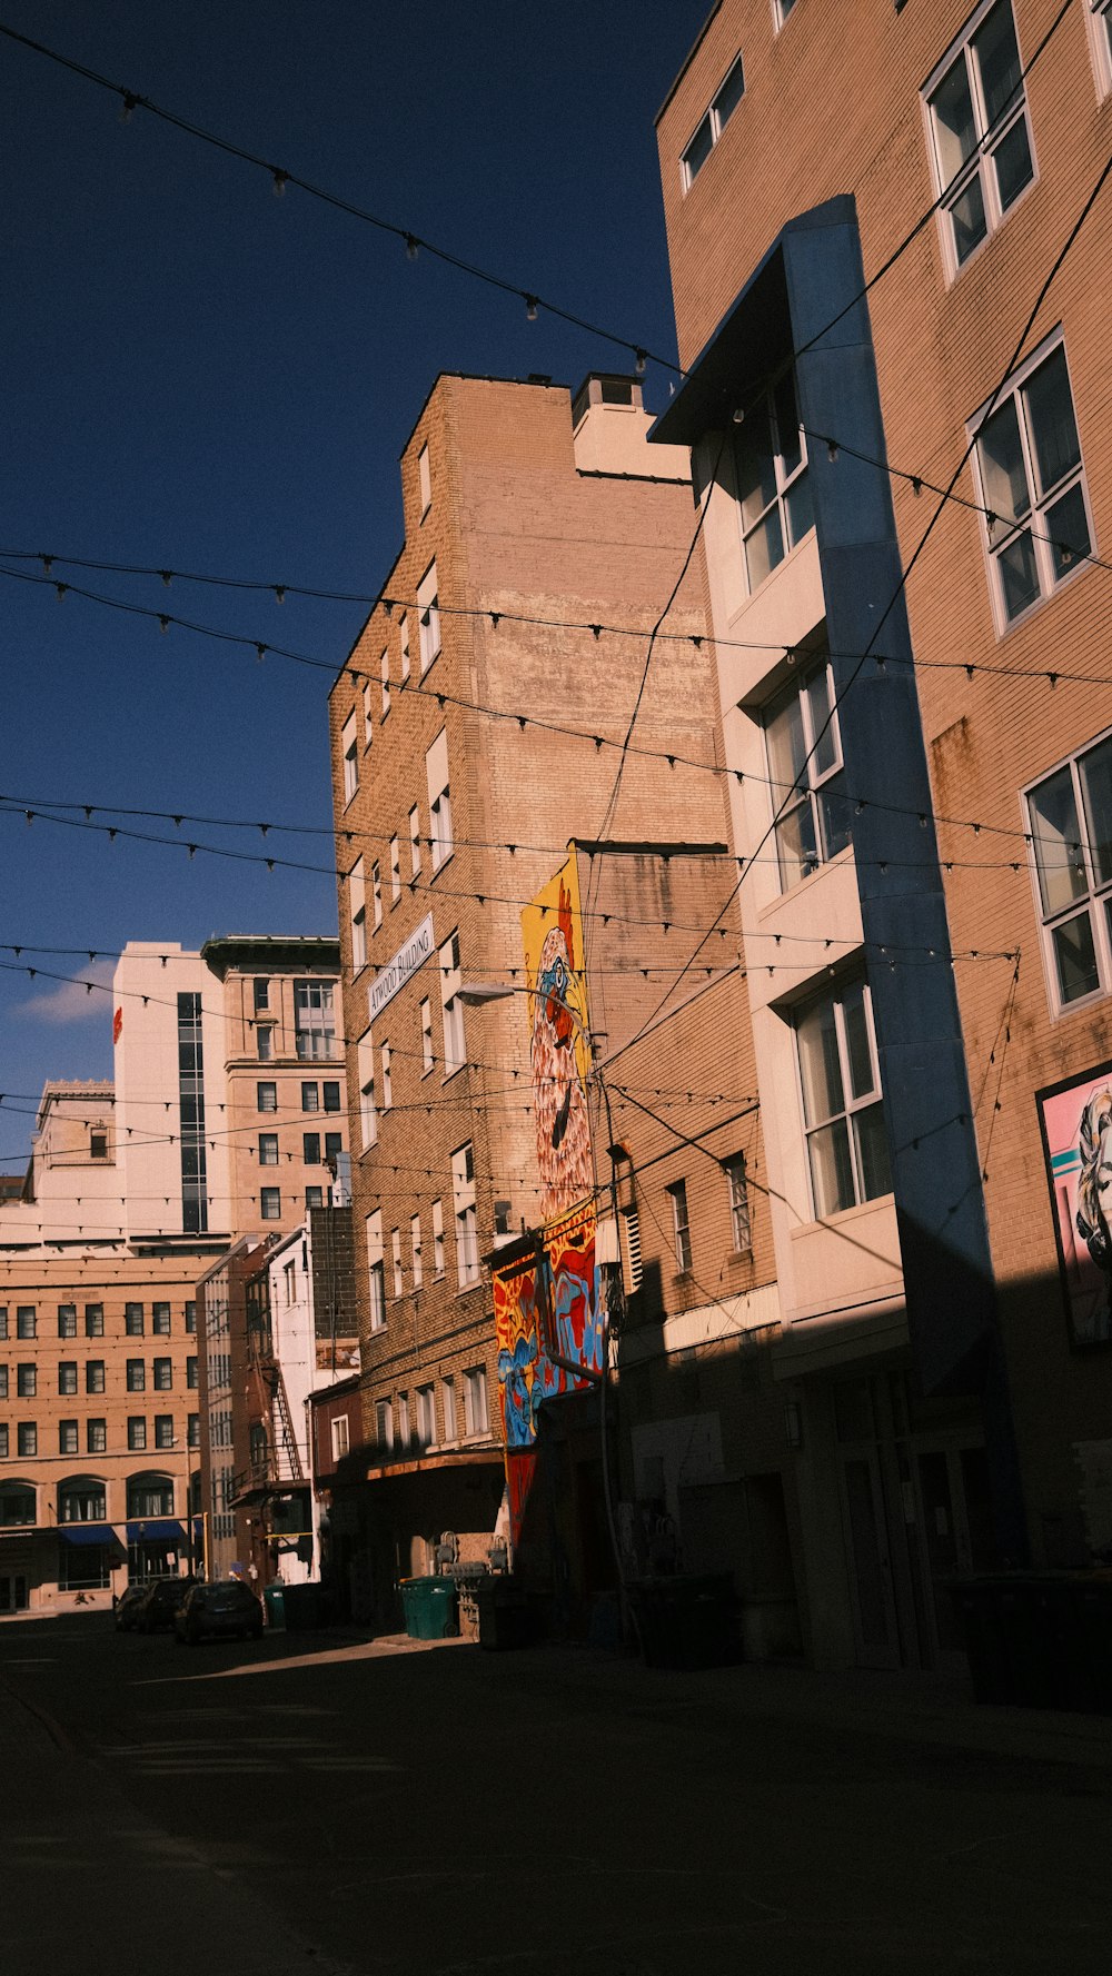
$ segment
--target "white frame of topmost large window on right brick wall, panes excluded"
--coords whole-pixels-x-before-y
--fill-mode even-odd
[[[980,61],[976,57],[976,40],[986,26],[990,14],[995,8],[1007,8],[1011,16],[1011,34],[1015,40],[1015,57],[1019,63],[1019,87],[1013,97],[1007,99],[1007,107],[997,113],[995,121],[990,123],[988,101],[984,95]],[[968,158],[958,166],[956,172],[946,178],[946,166],[942,162],[942,150],[938,142],[938,126],[934,121],[934,99],[938,97],[942,85],[958,65],[964,65],[964,79],[970,93],[970,105],[974,113],[974,146]],[[950,281],[960,269],[980,253],[986,241],[992,239],[999,223],[1013,209],[1013,206],[1023,198],[1023,194],[1035,184],[1039,170],[1035,162],[1035,138],[1031,132],[1031,113],[1027,109],[1027,89],[1023,83],[1023,55],[1019,49],[1019,32],[1015,26],[1015,8],[1011,0],[982,0],[976,14],[970,16],[960,36],[950,41],[950,47],[936,63],[936,67],[926,77],[922,85],[922,117],[926,124],[926,150],[930,156],[930,170],[934,178],[934,190],[940,202],[938,209],[938,231],[942,239],[942,255],[946,261],[946,271]],[[1011,138],[1017,124],[1023,123],[1027,134],[1027,156],[1031,162],[1031,176],[1025,180],[1017,192],[1011,194],[1007,206],[1001,202],[999,174],[997,174],[997,152],[1003,150],[1005,142]],[[980,194],[980,204],[984,211],[984,233],[982,237],[958,257],[956,223],[954,209],[968,194],[974,190],[974,182]]]

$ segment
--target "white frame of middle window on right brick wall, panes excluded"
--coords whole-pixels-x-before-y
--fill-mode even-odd
[[[1071,397],[1072,427],[1074,427],[1074,437],[1076,437],[1076,464],[1071,466],[1071,468],[1067,468],[1063,474],[1059,474],[1059,478],[1053,480],[1047,490],[1041,490],[1039,454],[1037,454],[1037,445],[1035,445],[1035,429],[1033,429],[1033,421],[1031,421],[1031,409],[1029,409],[1029,395],[1027,393],[1029,393],[1031,383],[1037,377],[1037,373],[1045,366],[1057,362],[1059,354],[1061,354],[1061,360],[1065,364],[1069,397]],[[1011,407],[1011,415],[1015,419],[1015,431],[1017,431],[1017,437],[1019,437],[1021,464],[1023,464],[1023,476],[1025,476],[1025,484],[1027,484],[1027,502],[1029,502],[1027,512],[1021,514],[1019,518],[1015,518],[1015,516],[999,516],[997,514],[995,502],[997,502],[999,496],[993,494],[993,482],[992,482],[990,474],[986,472],[986,462],[984,462],[984,454],[982,454],[984,435],[992,429],[993,421],[997,421],[1001,415],[1007,419],[1007,409],[1009,407]],[[988,567],[990,567],[992,609],[993,609],[993,617],[995,617],[997,634],[1003,636],[1003,632],[1011,630],[1013,624],[1021,624],[1031,611],[1035,611],[1041,603],[1047,601],[1047,597],[1053,597],[1055,591],[1061,591],[1063,583],[1069,583],[1069,579],[1074,577],[1078,573],[1078,569],[1084,569],[1088,557],[1092,557],[1092,553],[1094,553],[1092,508],[1090,508],[1090,502],[1088,502],[1088,482],[1086,482],[1086,474],[1084,474],[1084,456],[1080,453],[1080,431],[1078,431],[1078,425],[1076,425],[1076,407],[1074,407],[1074,399],[1072,399],[1072,381],[1071,381],[1071,373],[1069,373],[1069,360],[1067,360],[1067,354],[1065,354],[1065,336],[1063,336],[1061,328],[1053,330],[1039,344],[1039,348],[1031,352],[1031,356],[1027,358],[1027,362],[1021,364],[1019,370],[1015,370],[1011,373],[1011,377],[1007,379],[1005,389],[999,391],[999,393],[995,393],[995,399],[990,401],[990,407],[982,407],[970,419],[970,423],[968,423],[968,435],[970,435],[970,439],[976,437],[976,445],[974,445],[974,451],[972,451],[974,486],[976,486],[978,502],[980,502],[982,510],[984,510],[982,512],[982,541],[984,541],[984,549],[986,549],[986,557],[988,557]],[[1069,561],[1065,563],[1065,567],[1061,569],[1061,573],[1057,573],[1055,571],[1055,553],[1057,551],[1055,551],[1055,541],[1053,541],[1053,514],[1059,508],[1059,504],[1067,496],[1071,496],[1074,492],[1074,488],[1080,488],[1080,498],[1082,498],[1082,506],[1084,506],[1084,526],[1086,526],[1086,534],[1088,534],[1088,547],[1086,549],[1078,547],[1076,551],[1071,551],[1069,553]],[[1003,557],[1009,553],[1009,549],[1017,547],[1025,535],[1031,541],[1031,553],[1033,553],[1033,559],[1035,559],[1035,575],[1037,575],[1037,581],[1039,581],[1039,589],[1037,589],[1037,593],[1033,597],[1027,599],[1027,603],[1019,605],[1013,613],[1009,613],[1007,601],[1005,601],[1001,565],[1003,565]]]

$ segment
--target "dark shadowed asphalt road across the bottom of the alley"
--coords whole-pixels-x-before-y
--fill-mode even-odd
[[[895,1680],[6,1624],[6,1962],[1104,1976],[1112,1725]]]

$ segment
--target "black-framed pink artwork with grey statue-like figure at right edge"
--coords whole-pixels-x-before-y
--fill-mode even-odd
[[[1035,1093],[1071,1336],[1112,1342],[1112,1063]]]

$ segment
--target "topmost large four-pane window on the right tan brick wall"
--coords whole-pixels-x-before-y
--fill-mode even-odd
[[[1031,130],[1011,0],[978,8],[924,89],[952,271],[1031,184]]]

